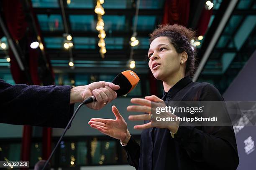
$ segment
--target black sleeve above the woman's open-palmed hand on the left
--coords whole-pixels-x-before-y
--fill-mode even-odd
[[[123,149],[127,153],[127,160],[129,165],[133,166],[138,170],[139,159],[140,159],[140,145],[131,136],[127,145],[123,146]]]

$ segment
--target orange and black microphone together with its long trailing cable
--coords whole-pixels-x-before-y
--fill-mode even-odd
[[[122,96],[122,95],[126,95],[129,92],[131,92],[131,90],[133,90],[134,87],[136,87],[139,80],[140,80],[140,78],[138,77],[138,75],[136,75],[135,72],[133,72],[131,70],[126,70],[126,71],[121,72],[119,75],[117,75],[112,82],[115,85],[119,85],[120,88],[118,90],[115,90],[115,92],[117,93],[118,96]],[[66,128],[64,129],[63,133],[61,134],[61,137],[59,138],[57,144],[55,145],[54,149],[52,150],[51,155],[49,156],[48,160],[44,164],[44,167],[42,168],[42,170],[46,170],[45,169],[46,166],[49,165],[49,161],[51,160],[52,155],[54,154],[55,150],[59,146],[59,143],[61,142],[62,138],[64,137],[65,133],[67,132],[68,127],[71,125],[71,122],[74,119],[75,115],[77,114],[77,111],[80,109],[80,107],[82,107],[82,105],[93,102],[93,101],[96,101],[95,96],[91,96],[91,97],[87,98],[77,107],[77,110],[74,112],[74,115],[69,120]]]

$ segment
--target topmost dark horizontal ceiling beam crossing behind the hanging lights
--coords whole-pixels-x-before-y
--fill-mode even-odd
[[[61,14],[60,8],[33,8],[37,14]],[[104,9],[108,15],[134,15],[134,9]],[[67,14],[73,15],[95,15],[94,8],[65,8]],[[162,9],[140,9],[140,15],[163,15]]]

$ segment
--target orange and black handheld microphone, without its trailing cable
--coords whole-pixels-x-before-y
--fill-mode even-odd
[[[115,85],[119,85],[120,87],[118,90],[115,90],[117,95],[123,96],[131,92],[131,90],[136,87],[139,81],[140,78],[138,77],[138,75],[136,75],[135,72],[133,72],[132,70],[126,70],[117,75],[112,82]],[[96,101],[95,96],[91,96],[84,100],[83,103],[88,104],[94,101]]]

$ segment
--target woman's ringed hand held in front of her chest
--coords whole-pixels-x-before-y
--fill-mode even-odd
[[[147,129],[152,127],[157,128],[167,128],[172,133],[177,132],[177,129],[179,127],[179,121],[175,121],[176,115],[170,113],[170,112],[161,112],[160,117],[167,118],[167,117],[173,117],[174,121],[156,121],[156,118],[153,117],[152,114],[155,116],[156,114],[156,108],[157,107],[166,107],[163,100],[161,100],[159,97],[156,97],[155,95],[146,96],[145,99],[143,98],[132,98],[131,103],[138,104],[138,105],[130,105],[127,107],[127,110],[130,112],[146,112],[148,114],[142,114],[142,115],[130,115],[128,118],[129,120],[150,120],[150,122],[143,124],[143,125],[135,125],[134,129]]]

